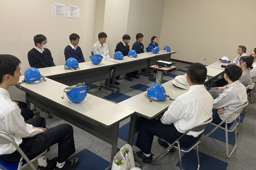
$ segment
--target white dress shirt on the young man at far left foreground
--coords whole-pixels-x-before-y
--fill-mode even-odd
[[[43,132],[41,129],[33,129],[31,124],[24,122],[18,105],[12,102],[8,91],[3,88],[0,88],[0,132],[12,137],[18,145],[21,144],[22,138],[33,137]],[[14,151],[16,148],[11,143],[0,145],[0,155]]]

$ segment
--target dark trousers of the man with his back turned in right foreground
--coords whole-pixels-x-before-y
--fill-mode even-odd
[[[154,136],[162,138],[166,142],[172,144],[181,135],[183,135],[183,133],[177,131],[173,124],[163,124],[157,119],[144,119],[140,123],[140,130],[136,141],[136,146],[138,146],[142,152],[150,154]],[[190,135],[185,135],[180,139],[180,146],[189,147],[193,145],[200,137],[201,134],[196,138]]]

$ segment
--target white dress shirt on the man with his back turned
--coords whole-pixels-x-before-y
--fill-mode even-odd
[[[212,117],[212,104],[213,98],[204,85],[193,85],[172,102],[161,121],[163,124],[173,123],[180,133],[184,133]],[[202,132],[189,131],[187,135],[197,137]]]

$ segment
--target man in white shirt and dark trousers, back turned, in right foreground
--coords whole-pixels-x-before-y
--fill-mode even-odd
[[[186,75],[189,90],[172,102],[160,120],[144,119],[140,123],[136,146],[141,151],[136,152],[136,156],[142,158],[143,162],[151,163],[153,160],[151,145],[154,135],[168,143],[173,143],[185,131],[212,117],[213,99],[204,88],[206,75],[207,69],[203,64],[194,63],[189,66]],[[202,133],[203,131],[188,132],[180,140],[180,145],[183,147],[193,145]]]

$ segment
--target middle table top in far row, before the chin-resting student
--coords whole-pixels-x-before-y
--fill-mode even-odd
[[[138,54],[137,58],[124,56],[124,58],[122,60],[118,60],[118,59],[115,59],[115,58],[106,59],[106,60],[116,62],[116,63],[119,63],[119,64],[124,64],[124,63],[127,63],[127,62],[135,62],[135,61],[139,61],[139,60],[150,59],[150,58],[153,58],[153,57],[155,57],[155,55],[153,53],[152,54],[141,53],[141,54]]]

